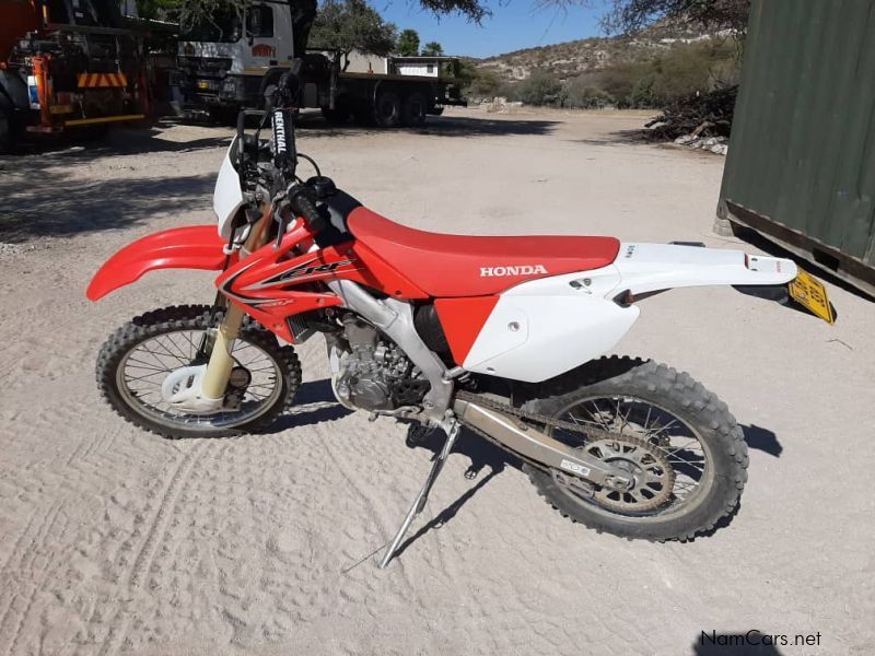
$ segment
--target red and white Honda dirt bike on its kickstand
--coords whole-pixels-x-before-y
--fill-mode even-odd
[[[600,531],[687,540],[731,513],[747,448],[726,405],[688,374],[604,354],[638,319],[637,301],[672,288],[790,294],[831,321],[822,285],[791,260],[736,250],[394,223],[296,151],[298,69],[267,89],[255,134],[241,115],[215,185],[218,230],[150,235],[92,280],[96,301],[154,269],[219,272],[211,306],[148,312],[107,340],[97,379],[109,405],[166,437],[264,430],[301,383],[292,344],[322,333],[340,403],[446,434],[382,566],[463,427]],[[306,180],[303,161],[316,173]]]

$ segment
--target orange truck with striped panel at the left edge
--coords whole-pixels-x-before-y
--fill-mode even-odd
[[[142,39],[117,2],[0,0],[0,152],[149,114]]]

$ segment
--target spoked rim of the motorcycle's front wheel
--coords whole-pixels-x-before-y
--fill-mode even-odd
[[[237,366],[252,375],[240,409],[211,414],[179,412],[161,396],[161,384],[174,370],[195,362],[202,329],[183,329],[150,337],[130,349],[116,368],[122,400],[138,414],[171,429],[231,429],[265,414],[282,393],[280,364],[261,347],[238,337],[231,351]]]

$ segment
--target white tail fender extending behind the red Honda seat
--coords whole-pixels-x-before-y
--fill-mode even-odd
[[[796,277],[793,260],[670,244],[620,244],[614,265],[620,286],[633,294],[709,284],[782,284]]]

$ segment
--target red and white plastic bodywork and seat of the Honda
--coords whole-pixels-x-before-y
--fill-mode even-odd
[[[89,297],[152,269],[222,269],[223,243],[243,202],[226,156],[214,194],[218,234],[196,226],[140,239],[104,265]],[[737,250],[614,237],[434,234],[358,204],[342,219],[345,238],[326,247],[298,220],[279,247],[268,244],[242,260],[233,254],[217,285],[287,342],[294,341],[290,317],[347,303],[335,288],[314,283],[348,280],[377,297],[433,303],[455,365],[539,382],[612,349],[640,314],[635,296],[695,285],[778,285],[796,276],[791,260]]]

